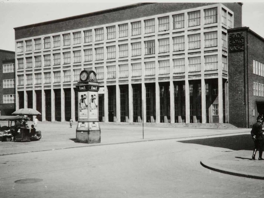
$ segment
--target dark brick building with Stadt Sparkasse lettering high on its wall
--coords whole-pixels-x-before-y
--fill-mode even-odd
[[[227,33],[229,123],[251,128],[264,114],[264,38],[248,27]]]

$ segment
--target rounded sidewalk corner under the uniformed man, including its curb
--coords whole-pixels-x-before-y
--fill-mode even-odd
[[[225,152],[222,155],[201,160],[205,168],[240,177],[264,179],[264,160],[252,160],[252,152],[249,150]]]

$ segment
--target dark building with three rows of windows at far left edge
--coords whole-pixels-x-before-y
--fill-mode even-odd
[[[0,115],[15,111],[15,52],[0,50]]]

